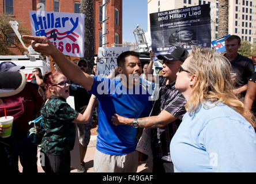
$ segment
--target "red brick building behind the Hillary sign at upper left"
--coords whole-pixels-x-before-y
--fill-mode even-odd
[[[68,13],[79,13],[80,0],[0,0],[0,13],[9,13],[13,18],[24,22],[22,25],[31,30],[29,10],[38,10],[42,3],[45,11],[59,11]],[[102,29],[102,1],[93,0],[94,22],[95,22],[95,53],[97,53]],[[107,47],[111,44],[122,44],[122,0],[110,0],[107,4]],[[77,60],[73,58],[72,60]]]

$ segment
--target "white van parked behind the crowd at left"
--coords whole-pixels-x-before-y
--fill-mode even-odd
[[[40,58],[40,55],[19,55],[19,56],[0,56],[0,63],[13,62],[17,66],[24,66],[25,69],[20,71],[24,72],[27,77],[27,81],[31,81],[33,68],[40,68],[42,74],[50,71],[50,60],[46,57],[45,60]]]

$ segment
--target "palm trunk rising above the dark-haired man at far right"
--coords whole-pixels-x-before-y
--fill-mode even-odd
[[[228,0],[219,1],[218,37],[228,34]]]

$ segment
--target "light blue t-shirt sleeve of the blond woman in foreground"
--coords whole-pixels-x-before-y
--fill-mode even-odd
[[[255,132],[249,122],[231,118],[210,120],[201,131],[199,143],[209,154],[214,172],[255,170]]]

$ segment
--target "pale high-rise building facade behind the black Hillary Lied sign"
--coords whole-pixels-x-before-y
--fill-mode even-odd
[[[179,9],[182,7],[210,4],[212,41],[218,39],[219,0],[148,0],[148,30],[150,30],[149,14],[160,11]],[[253,43],[256,36],[256,0],[229,0],[228,33],[236,34],[244,41]]]

